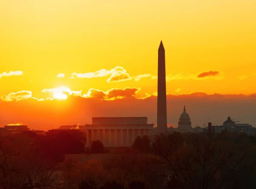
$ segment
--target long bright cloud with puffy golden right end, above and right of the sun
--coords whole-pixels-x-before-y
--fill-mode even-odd
[[[111,70],[106,70],[106,69],[101,69],[96,72],[88,72],[88,73],[73,73],[71,74],[71,78],[93,78],[93,77],[107,77],[108,82],[119,82],[119,81],[124,81],[124,80],[131,80],[131,76],[127,73],[127,71],[121,67],[121,66],[116,66],[115,68]]]

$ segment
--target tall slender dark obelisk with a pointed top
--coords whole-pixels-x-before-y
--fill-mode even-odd
[[[157,73],[157,134],[167,132],[165,50],[161,41],[158,48]]]

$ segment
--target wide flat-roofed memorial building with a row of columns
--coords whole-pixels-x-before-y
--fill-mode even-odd
[[[79,126],[86,132],[86,146],[100,140],[105,147],[131,147],[137,136],[148,136],[154,124],[147,117],[93,117],[91,125]]]

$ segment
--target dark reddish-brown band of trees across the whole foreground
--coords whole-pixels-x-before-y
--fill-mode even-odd
[[[104,146],[93,141],[91,152]],[[0,137],[3,189],[254,189],[256,138],[241,133],[137,137],[130,152],[86,162],[84,139],[32,132]]]

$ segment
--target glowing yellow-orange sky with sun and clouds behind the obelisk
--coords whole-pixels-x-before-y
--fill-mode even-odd
[[[115,100],[125,103],[129,97],[135,98],[134,103],[150,106],[147,98],[157,95],[157,49],[161,40],[166,50],[169,95],[184,99],[184,95],[189,98],[189,94],[198,92],[217,93],[227,95],[227,99],[228,94],[243,94],[253,103],[255,7],[255,0],[1,1],[0,109],[12,119],[0,117],[0,124],[21,121],[17,120],[20,112],[6,114],[8,111],[3,109],[57,104],[47,112],[41,110],[40,115],[34,115],[35,111],[23,115],[24,124],[30,120],[38,125],[35,117],[45,117],[49,111],[58,113],[60,105],[70,109],[70,99],[77,99],[75,103],[82,98],[86,102],[84,108],[99,103],[108,104],[108,108],[104,106],[110,109]],[[244,102],[240,96],[232,97],[239,98],[237,103]],[[17,102],[20,99],[22,103]],[[226,114],[212,117],[226,119],[229,109],[222,107],[218,97],[215,100],[212,106],[221,106]],[[245,104],[244,108],[248,105]],[[181,100],[173,108],[180,114],[176,108],[183,105]],[[174,111],[171,103],[169,106]],[[121,107],[124,112],[125,107]],[[196,109],[191,107],[192,111]],[[92,116],[93,111],[87,110]],[[143,116],[156,122],[155,108],[151,110],[143,112]],[[99,112],[101,116],[116,115],[112,111],[111,115]],[[134,116],[141,114],[134,112]],[[178,117],[168,119],[169,124],[175,125]],[[84,121],[90,118],[67,123]],[[250,121],[256,123],[253,118]],[[204,121],[198,118],[197,122]],[[51,125],[44,124],[43,128]]]

